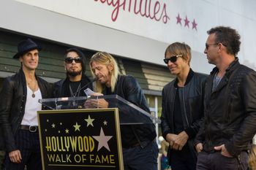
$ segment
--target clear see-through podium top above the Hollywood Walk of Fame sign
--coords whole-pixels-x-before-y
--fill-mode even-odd
[[[108,108],[118,108],[120,125],[160,123],[157,117],[118,95],[44,98],[40,99],[39,103],[48,109],[86,109],[84,104],[91,99],[105,100],[108,102]],[[96,107],[95,109],[99,108]]]

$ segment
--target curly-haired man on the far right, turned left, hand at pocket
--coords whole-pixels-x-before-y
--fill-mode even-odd
[[[247,169],[246,150],[256,133],[256,72],[236,57],[241,42],[235,29],[218,26],[207,33],[204,53],[216,67],[206,82],[197,169]]]

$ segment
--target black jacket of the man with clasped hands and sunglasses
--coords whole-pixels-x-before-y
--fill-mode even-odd
[[[203,117],[203,90],[206,82],[206,74],[195,73],[190,69],[184,88],[178,90],[181,104],[181,117],[184,131],[193,142],[200,128]],[[175,134],[173,123],[174,101],[176,98],[177,78],[169,82],[162,90],[162,136]],[[191,145],[192,146],[192,145]]]

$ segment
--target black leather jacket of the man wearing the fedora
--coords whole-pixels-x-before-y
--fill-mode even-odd
[[[40,77],[36,76],[36,78],[42,98],[50,98],[52,96],[52,86]],[[18,149],[15,144],[15,135],[23,119],[26,93],[26,79],[22,69],[17,74],[4,80],[0,93],[0,124],[7,152]],[[45,108],[42,107],[42,109]]]

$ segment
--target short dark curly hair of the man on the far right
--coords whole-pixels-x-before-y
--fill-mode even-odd
[[[227,47],[227,53],[231,55],[237,55],[240,50],[241,36],[238,34],[238,31],[236,31],[233,28],[225,27],[225,26],[217,26],[214,28],[211,28],[207,33],[215,34],[216,43],[222,43],[225,47]]]

